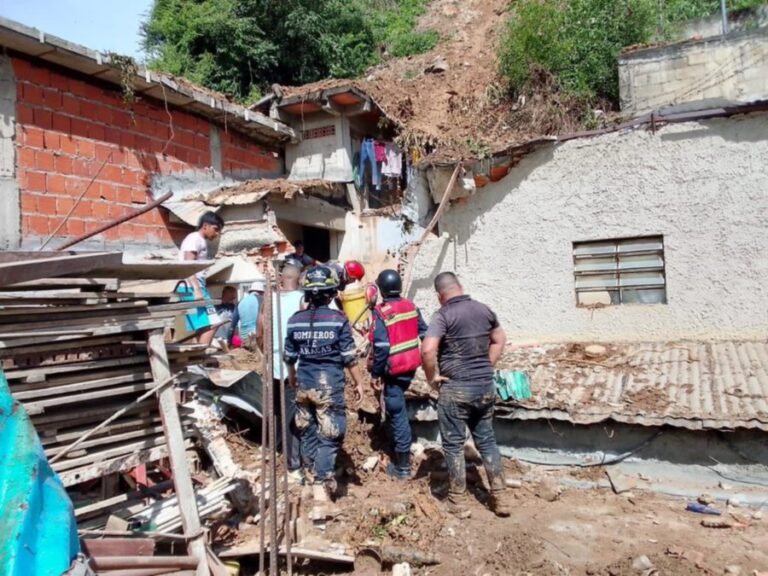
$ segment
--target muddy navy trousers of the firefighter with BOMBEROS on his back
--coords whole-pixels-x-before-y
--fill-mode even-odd
[[[301,433],[301,458],[315,482],[333,478],[336,455],[347,431],[343,382],[332,387],[299,385],[296,427]]]

